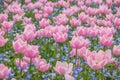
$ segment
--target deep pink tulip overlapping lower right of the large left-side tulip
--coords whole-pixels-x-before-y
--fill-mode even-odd
[[[39,56],[38,46],[28,45],[25,50],[25,56],[29,58],[35,58]]]

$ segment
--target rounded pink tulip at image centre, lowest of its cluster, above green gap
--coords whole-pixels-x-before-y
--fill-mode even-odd
[[[53,38],[55,40],[55,42],[65,42],[67,40],[67,33],[63,33],[63,32],[57,32],[55,34],[53,34]]]

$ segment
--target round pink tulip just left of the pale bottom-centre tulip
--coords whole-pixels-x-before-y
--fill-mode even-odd
[[[38,70],[40,70],[41,72],[46,72],[49,70],[50,68],[50,64],[47,64],[45,59],[40,59],[38,60],[38,62],[36,63],[36,67]]]

